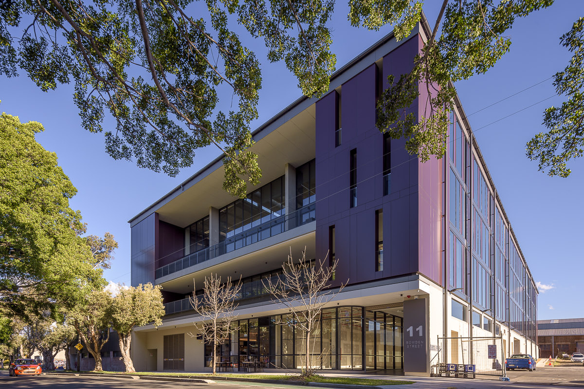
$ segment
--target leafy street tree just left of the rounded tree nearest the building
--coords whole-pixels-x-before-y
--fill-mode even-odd
[[[112,314],[112,295],[107,291],[93,291],[69,313],[71,324],[95,359],[96,372],[102,372],[103,345],[109,340]]]

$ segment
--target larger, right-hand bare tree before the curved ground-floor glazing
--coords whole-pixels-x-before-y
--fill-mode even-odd
[[[330,266],[326,266],[327,258],[328,254],[324,260],[312,263],[306,260],[306,249],[304,249],[300,262],[295,263],[290,250],[288,260],[282,265],[283,271],[277,277],[277,281],[272,281],[271,278],[263,280],[264,287],[274,296],[273,301],[290,310],[290,314],[287,315],[288,320],[277,324],[294,327],[305,334],[302,350],[304,365],[302,375],[305,377],[312,376],[318,368],[311,363],[310,351],[311,340],[321,319],[322,308],[349,282],[347,280],[341,284],[339,289],[329,289],[339,261],[333,260]],[[314,347],[314,341],[312,346]],[[320,358],[322,358],[322,351]]]

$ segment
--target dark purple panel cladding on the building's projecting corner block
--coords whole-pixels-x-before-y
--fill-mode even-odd
[[[371,64],[340,89],[342,143],[335,146],[338,95],[316,105],[317,257],[329,249],[335,226],[336,282],[350,284],[418,271],[442,280],[442,161],[421,164],[391,142],[391,187],[383,193],[383,135],[376,128],[376,86],[388,75],[396,80],[413,66],[422,43],[413,37]],[[383,77],[379,80],[379,77]],[[421,91],[421,90],[420,90]],[[421,115],[425,94],[406,113]],[[356,206],[350,206],[350,153],[356,149]],[[376,211],[383,211],[383,271],[376,271]]]

